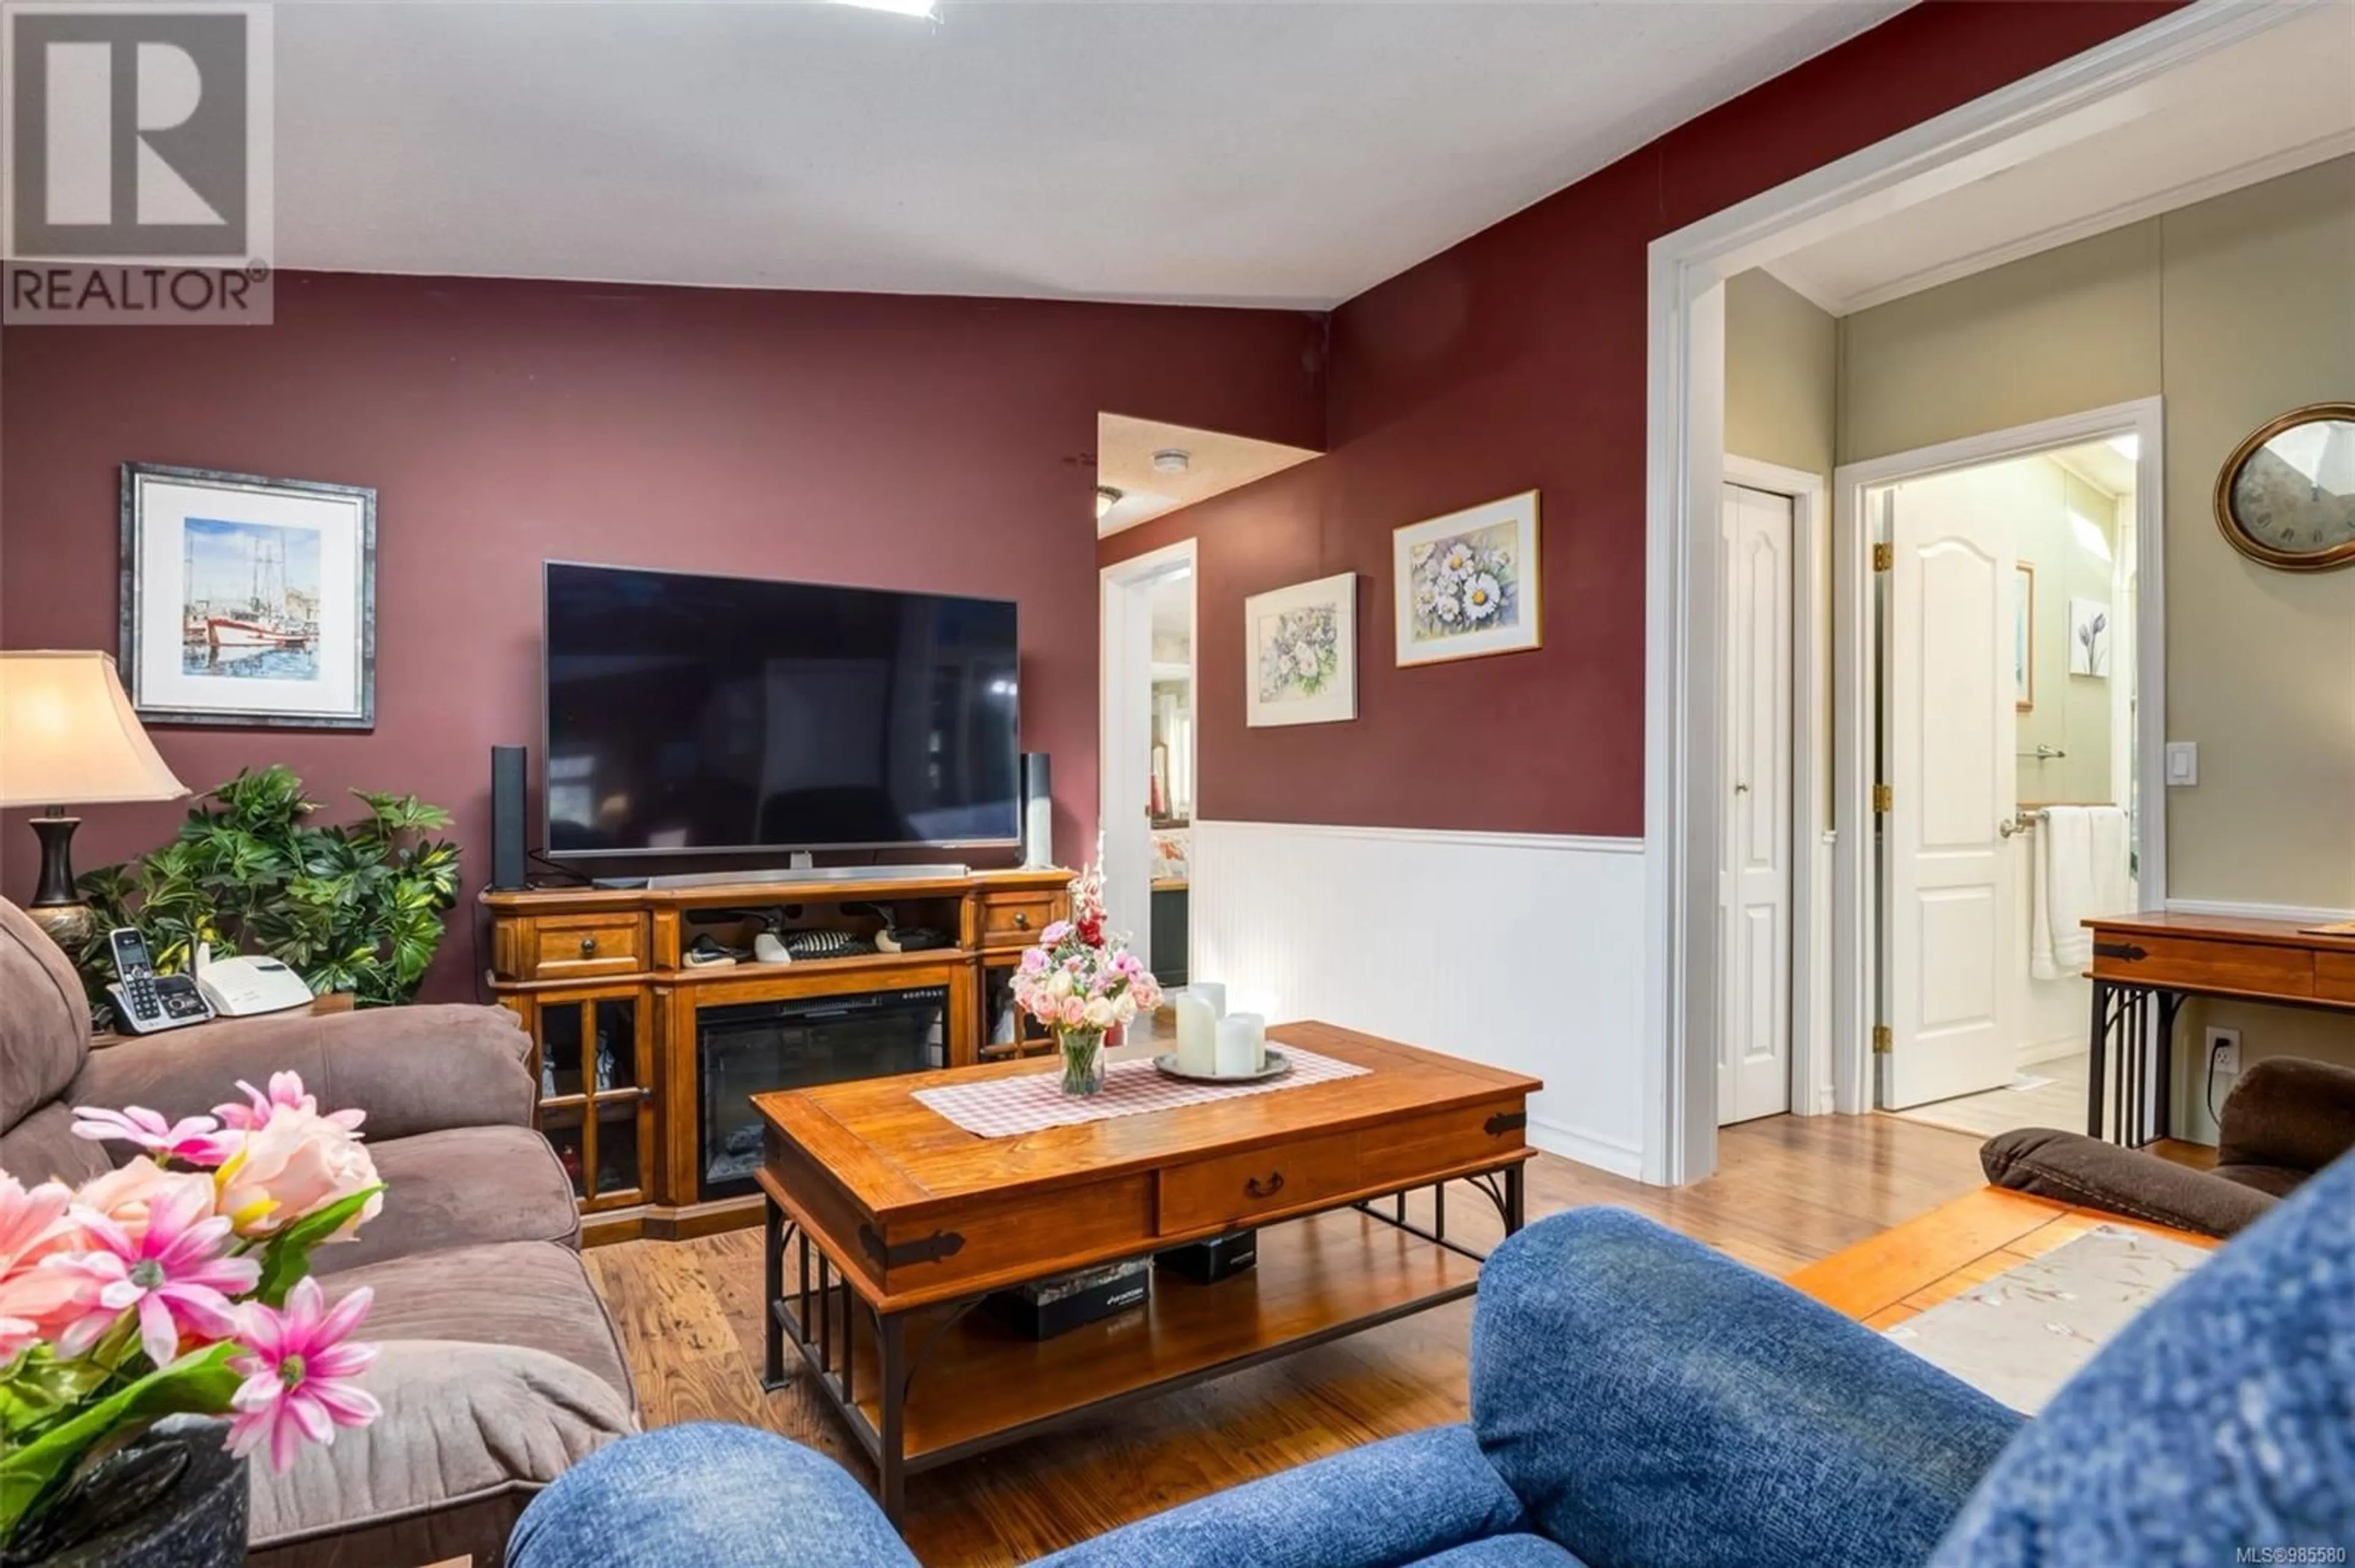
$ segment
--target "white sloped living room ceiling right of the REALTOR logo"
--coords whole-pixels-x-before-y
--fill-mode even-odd
[[[1896,9],[278,5],[278,264],[1326,308]]]

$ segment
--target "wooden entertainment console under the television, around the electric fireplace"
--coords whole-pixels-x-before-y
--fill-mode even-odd
[[[490,989],[532,1036],[539,1130],[572,1172],[584,1241],[685,1238],[761,1222],[756,1189],[702,1196],[704,1008],[940,986],[949,996],[949,1067],[1053,1050],[1020,1010],[1013,1043],[991,1045],[989,1036],[1022,949],[1072,913],[1069,883],[1069,871],[1048,869],[485,892]],[[897,925],[937,930],[949,944],[780,965],[685,963],[697,930],[742,935],[761,916],[784,930],[871,937],[876,904],[890,906]]]

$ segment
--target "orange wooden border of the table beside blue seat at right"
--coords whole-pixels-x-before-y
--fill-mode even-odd
[[[2171,1231],[2164,1224],[2145,1224],[2098,1208],[2070,1208],[2054,1198],[1981,1187],[1853,1248],[1816,1260],[1790,1274],[1787,1283],[1865,1328],[1889,1328],[1962,1295],[1971,1285],[1983,1285],[2006,1269],[2042,1257],[2096,1224],[2150,1231],[2207,1250],[2223,1245],[2214,1236]]]

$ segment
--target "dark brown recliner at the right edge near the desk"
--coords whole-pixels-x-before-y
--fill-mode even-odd
[[[1999,1132],[1978,1163],[1997,1187],[2230,1236],[2350,1147],[2355,1067],[2268,1057],[2225,1095],[2214,1170],[2054,1128]]]

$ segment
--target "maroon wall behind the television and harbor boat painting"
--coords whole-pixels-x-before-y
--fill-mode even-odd
[[[115,647],[125,459],[377,487],[377,727],[188,730],[184,784],[283,760],[325,800],[457,812],[466,913],[495,742],[539,735],[539,563],[937,589],[1022,607],[1022,744],[1095,833],[1100,410],[1316,447],[1324,320],[890,294],[278,278],[273,327],[0,339],[0,645]],[[1081,459],[1081,461],[1072,461]],[[78,864],[181,805],[82,812]],[[31,895],[24,812],[0,888]],[[464,996],[459,918],[429,996]]]

